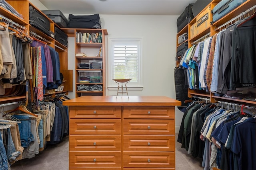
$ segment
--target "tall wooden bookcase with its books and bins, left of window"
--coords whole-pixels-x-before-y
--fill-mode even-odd
[[[105,35],[106,29],[74,31],[76,97],[105,95]]]

